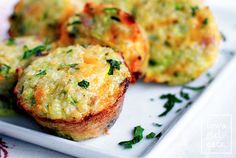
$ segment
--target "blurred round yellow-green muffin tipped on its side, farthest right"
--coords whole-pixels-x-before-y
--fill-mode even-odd
[[[150,41],[146,82],[184,84],[213,65],[220,34],[208,7],[197,0],[136,0],[135,5]]]

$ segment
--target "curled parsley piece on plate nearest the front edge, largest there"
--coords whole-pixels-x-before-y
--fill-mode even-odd
[[[137,144],[143,139],[144,129],[141,126],[136,126],[134,128],[133,139],[129,141],[120,142],[119,145],[123,146],[125,149],[130,149],[134,144]]]

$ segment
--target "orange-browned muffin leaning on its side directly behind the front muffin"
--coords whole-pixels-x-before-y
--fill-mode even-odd
[[[61,44],[100,44],[122,53],[133,81],[148,63],[148,40],[128,13],[106,4],[86,3],[62,28]]]

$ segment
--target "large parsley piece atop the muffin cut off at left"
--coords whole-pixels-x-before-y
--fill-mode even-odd
[[[28,47],[25,46],[25,49],[26,50],[24,51],[23,59],[28,59],[34,55],[40,55],[43,51],[47,49],[47,45],[39,45],[37,47],[34,47],[33,49],[28,49]]]

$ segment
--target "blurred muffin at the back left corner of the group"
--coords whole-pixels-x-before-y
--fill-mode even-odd
[[[74,12],[72,4],[71,0],[20,0],[10,18],[10,35],[57,40],[63,21]]]

